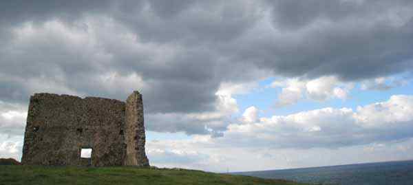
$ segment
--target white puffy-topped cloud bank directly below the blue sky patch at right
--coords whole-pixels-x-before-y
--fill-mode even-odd
[[[413,96],[391,96],[357,111],[324,108],[233,123],[217,144],[275,148],[341,147],[413,137]]]

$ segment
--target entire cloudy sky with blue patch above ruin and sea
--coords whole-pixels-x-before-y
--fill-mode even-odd
[[[0,1],[0,157],[34,93],[143,96],[151,165],[413,160],[413,1]]]

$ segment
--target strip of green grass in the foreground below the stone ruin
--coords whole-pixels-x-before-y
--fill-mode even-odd
[[[192,170],[73,166],[0,166],[0,184],[289,184],[284,180]]]

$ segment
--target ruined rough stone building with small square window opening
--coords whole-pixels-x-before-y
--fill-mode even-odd
[[[34,94],[30,97],[22,164],[149,166],[142,95],[126,100]],[[90,158],[82,149],[92,149]]]

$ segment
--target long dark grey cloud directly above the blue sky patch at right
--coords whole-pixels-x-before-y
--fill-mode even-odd
[[[257,41],[266,45],[251,50],[240,44],[237,55],[285,76],[339,76],[360,80],[409,71],[412,67],[412,21],[402,28],[322,28],[297,36],[297,41]],[[357,31],[357,32],[355,32]],[[279,41],[279,42],[277,42]]]

